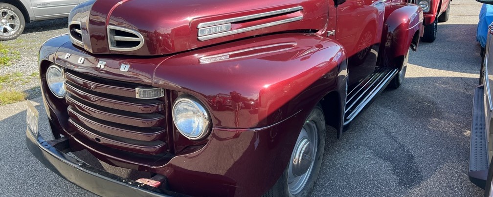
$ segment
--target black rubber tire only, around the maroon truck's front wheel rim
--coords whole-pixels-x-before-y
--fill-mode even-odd
[[[318,173],[320,172],[320,167],[322,165],[323,159],[323,150],[325,148],[325,117],[323,115],[323,110],[320,104],[317,104],[315,108],[310,112],[307,117],[306,122],[313,121],[317,126],[317,136],[318,136],[318,144],[317,144],[317,152],[315,156],[315,163],[313,164],[313,168],[311,170],[310,175],[308,176],[308,180],[305,183],[303,189],[297,193],[292,194],[289,191],[288,186],[288,176],[289,176],[289,164],[284,169],[279,180],[276,184],[263,195],[263,197],[308,197],[310,193],[315,188],[315,183],[318,178]],[[289,161],[291,162],[291,160]]]

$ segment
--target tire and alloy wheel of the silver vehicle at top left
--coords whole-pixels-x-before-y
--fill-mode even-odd
[[[0,41],[19,37],[25,26],[21,10],[8,3],[0,3]]]

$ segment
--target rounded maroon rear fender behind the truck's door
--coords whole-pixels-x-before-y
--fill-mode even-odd
[[[387,7],[385,15],[379,64],[401,66],[409,47],[414,51],[418,47],[423,13],[415,4],[401,3]]]

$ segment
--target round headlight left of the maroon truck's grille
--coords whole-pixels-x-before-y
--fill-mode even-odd
[[[48,70],[46,70],[46,82],[51,92],[58,98],[62,98],[67,94],[64,73],[59,66],[51,65],[48,67]]]

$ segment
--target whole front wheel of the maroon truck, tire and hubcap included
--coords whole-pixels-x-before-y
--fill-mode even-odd
[[[306,143],[307,141],[308,143]],[[315,143],[317,146],[313,146],[314,141],[317,141]],[[322,107],[320,104],[317,104],[308,115],[305,125],[303,125],[303,129],[298,136],[293,153],[291,154],[289,164],[284,169],[281,178],[279,178],[274,187],[264,194],[263,197],[308,197],[313,191],[318,178],[324,148],[325,117]],[[309,161],[307,157],[295,157],[295,155],[304,155],[301,153],[311,154],[315,159]],[[295,158],[299,160],[295,160]],[[295,164],[295,161],[298,161],[298,163]]]

